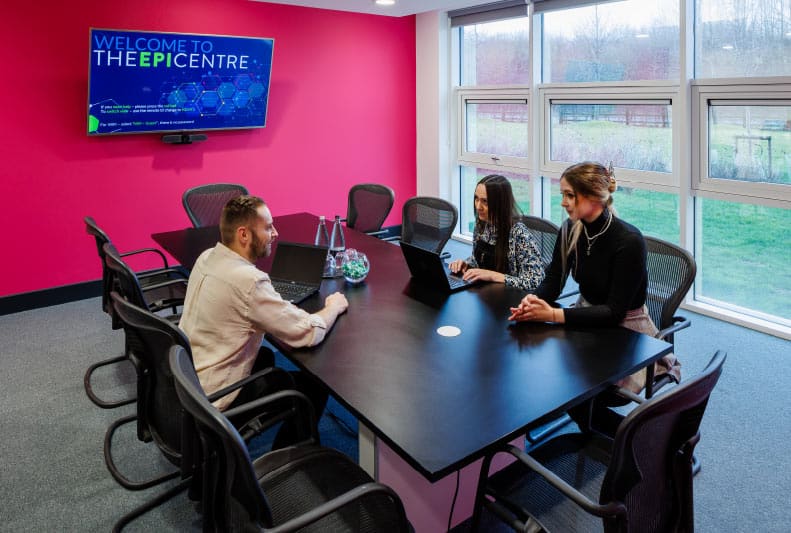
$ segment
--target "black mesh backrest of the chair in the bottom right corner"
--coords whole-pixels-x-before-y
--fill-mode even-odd
[[[605,531],[692,531],[692,452],[725,358],[718,351],[703,372],[641,404],[618,427],[599,501],[624,503],[628,527],[605,518]]]

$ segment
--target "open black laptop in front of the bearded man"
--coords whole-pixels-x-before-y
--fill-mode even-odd
[[[298,304],[319,291],[326,260],[324,246],[278,242],[269,279],[284,300]]]

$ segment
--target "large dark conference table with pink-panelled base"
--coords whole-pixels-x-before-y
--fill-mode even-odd
[[[318,217],[297,213],[274,223],[278,240],[310,243]],[[411,279],[398,246],[348,228],[345,235],[348,248],[368,256],[367,279],[360,285],[326,279],[300,307],[316,311],[325,296],[341,291],[348,311],[318,346],[293,349],[269,340],[359,420],[360,463],[401,495],[417,531],[444,530],[449,512],[453,524],[471,514],[476,465],[487,452],[523,442],[529,426],[671,351],[621,327],[509,322],[508,308],[524,291],[487,283],[443,293]],[[152,238],[191,268],[219,231],[189,228]],[[257,264],[268,271],[271,256]],[[458,334],[443,335],[452,329],[444,326]],[[454,498],[457,476],[463,482]]]

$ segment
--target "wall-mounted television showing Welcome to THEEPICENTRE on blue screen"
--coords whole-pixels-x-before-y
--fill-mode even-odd
[[[88,135],[262,128],[272,39],[91,28]]]

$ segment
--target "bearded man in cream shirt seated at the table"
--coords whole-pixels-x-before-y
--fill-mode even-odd
[[[339,292],[327,296],[324,308],[315,314],[283,300],[267,273],[255,266],[257,259],[271,253],[277,235],[272,214],[261,198],[234,198],[220,219],[222,242],[203,252],[192,269],[179,326],[190,341],[206,394],[273,366],[271,350],[261,347],[264,334],[294,347],[316,345],[349,305]],[[293,377],[296,388],[311,399],[318,420],[326,392],[302,373]],[[262,381],[255,380],[214,405],[225,410],[288,386]],[[278,435],[279,445],[286,444],[283,433]]]

